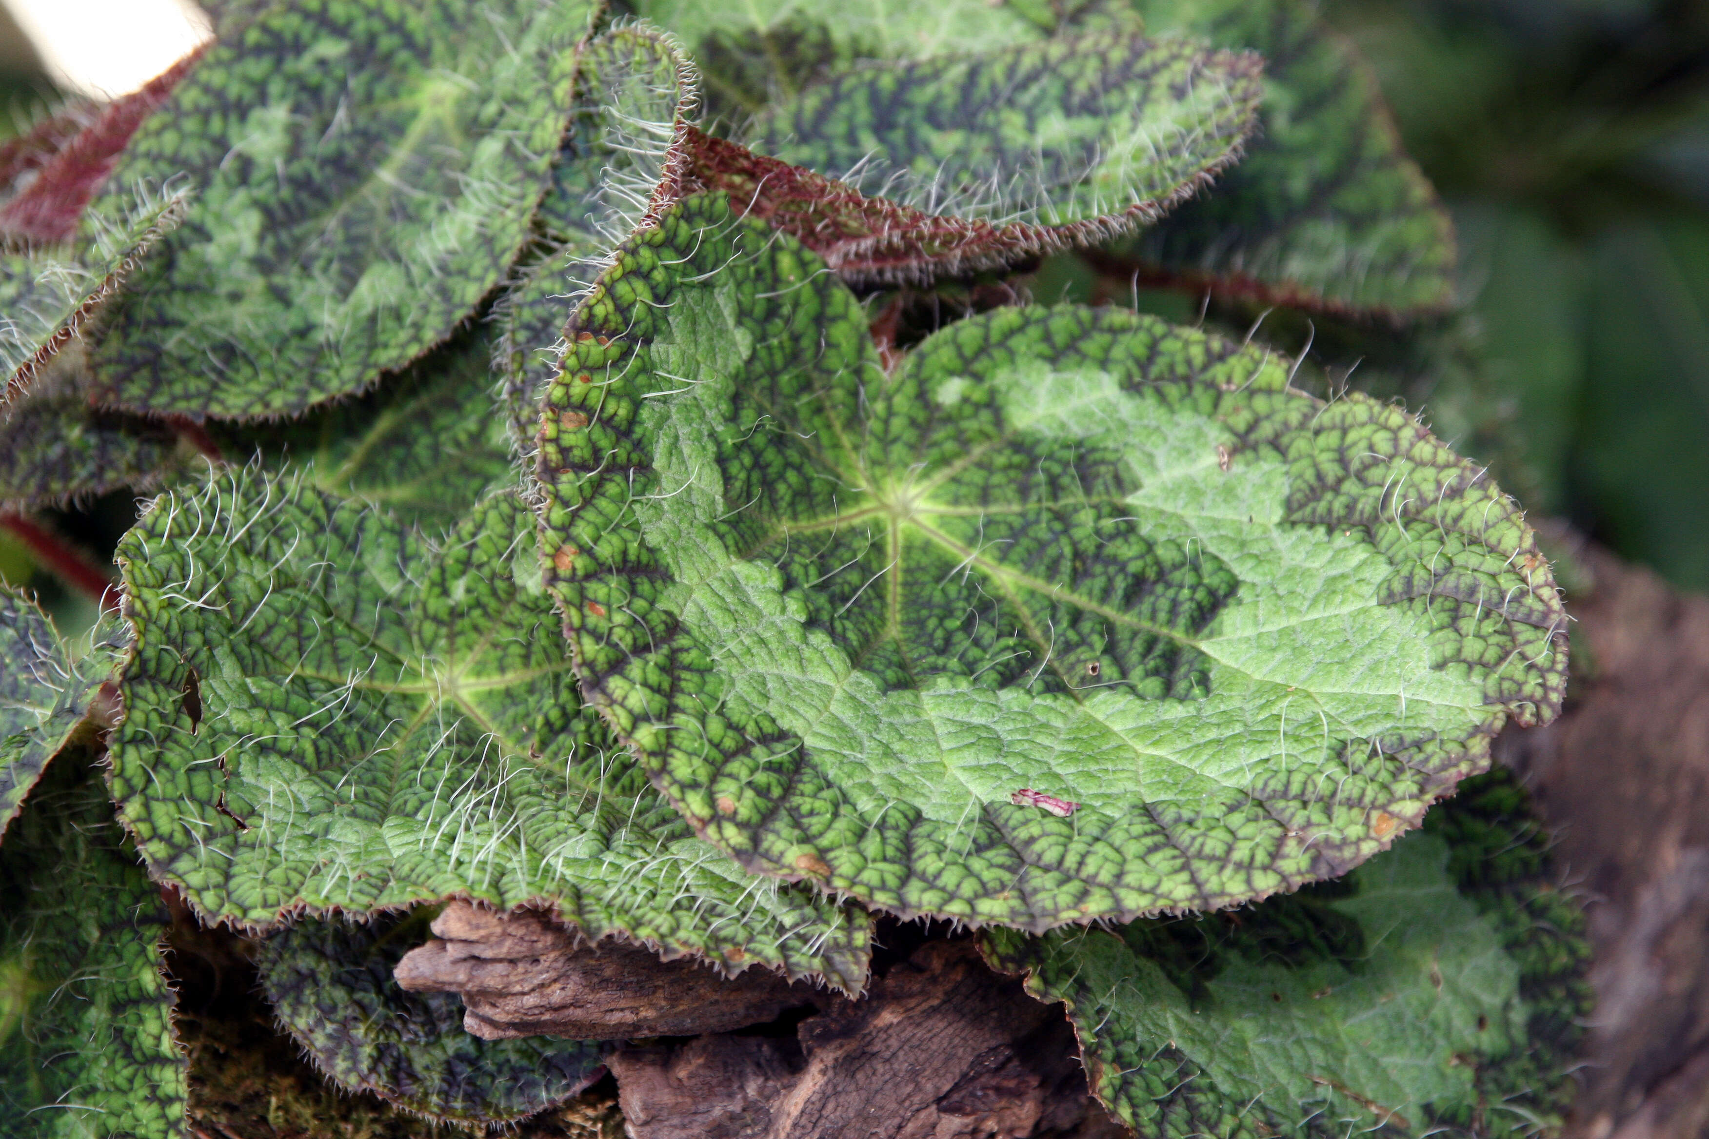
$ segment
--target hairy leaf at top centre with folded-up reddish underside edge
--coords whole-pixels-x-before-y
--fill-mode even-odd
[[[798,231],[846,277],[988,268],[1155,222],[1191,196],[1239,155],[1258,72],[1253,55],[1121,31],[872,63],[772,102],[747,145],[931,219],[986,224],[923,249],[907,229],[829,248]]]

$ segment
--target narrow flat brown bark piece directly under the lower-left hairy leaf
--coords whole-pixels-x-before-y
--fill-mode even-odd
[[[761,1025],[819,999],[771,970],[725,978],[689,958],[661,961],[639,946],[586,941],[528,910],[453,902],[432,932],[393,975],[412,992],[460,994],[463,1028],[482,1040],[689,1037]]]

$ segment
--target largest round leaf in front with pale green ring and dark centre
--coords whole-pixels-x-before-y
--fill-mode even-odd
[[[1559,709],[1514,504],[1258,347],[1000,309],[887,374],[848,289],[716,196],[571,331],[542,534],[583,692],[752,869],[1029,929],[1230,905],[1345,873]]]

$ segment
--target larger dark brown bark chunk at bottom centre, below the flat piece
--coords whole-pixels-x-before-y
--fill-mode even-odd
[[[795,1038],[701,1037],[610,1060],[636,1139],[1116,1139],[1061,1008],[972,943],[933,941]]]

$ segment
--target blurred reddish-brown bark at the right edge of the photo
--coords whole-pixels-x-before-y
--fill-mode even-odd
[[[1709,598],[1583,546],[1574,690],[1509,731],[1588,895],[1596,1013],[1569,1139],[1709,1134]],[[1583,680],[1577,680],[1583,678]]]

